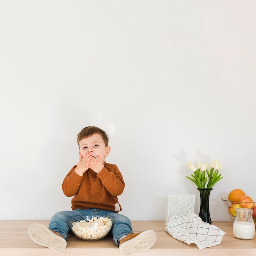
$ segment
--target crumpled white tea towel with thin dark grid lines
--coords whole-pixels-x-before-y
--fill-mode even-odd
[[[226,234],[218,227],[203,222],[195,213],[169,218],[165,230],[188,245],[195,243],[199,249],[219,245]]]

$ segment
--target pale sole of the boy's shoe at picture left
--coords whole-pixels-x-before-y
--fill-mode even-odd
[[[50,229],[38,223],[34,223],[29,227],[29,236],[39,245],[53,249],[56,252],[63,251],[67,246],[67,242],[63,237],[54,234]]]

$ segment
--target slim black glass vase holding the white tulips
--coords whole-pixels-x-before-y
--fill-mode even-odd
[[[199,217],[204,222],[211,224],[211,216],[209,211],[209,198],[213,189],[198,189],[200,193],[200,212]]]

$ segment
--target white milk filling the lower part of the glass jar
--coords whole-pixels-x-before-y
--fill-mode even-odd
[[[233,224],[233,234],[235,238],[252,239],[255,234],[255,225],[251,222],[238,221]]]

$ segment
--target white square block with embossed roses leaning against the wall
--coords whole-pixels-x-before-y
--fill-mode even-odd
[[[168,195],[165,204],[164,225],[169,218],[194,213],[195,195]]]

